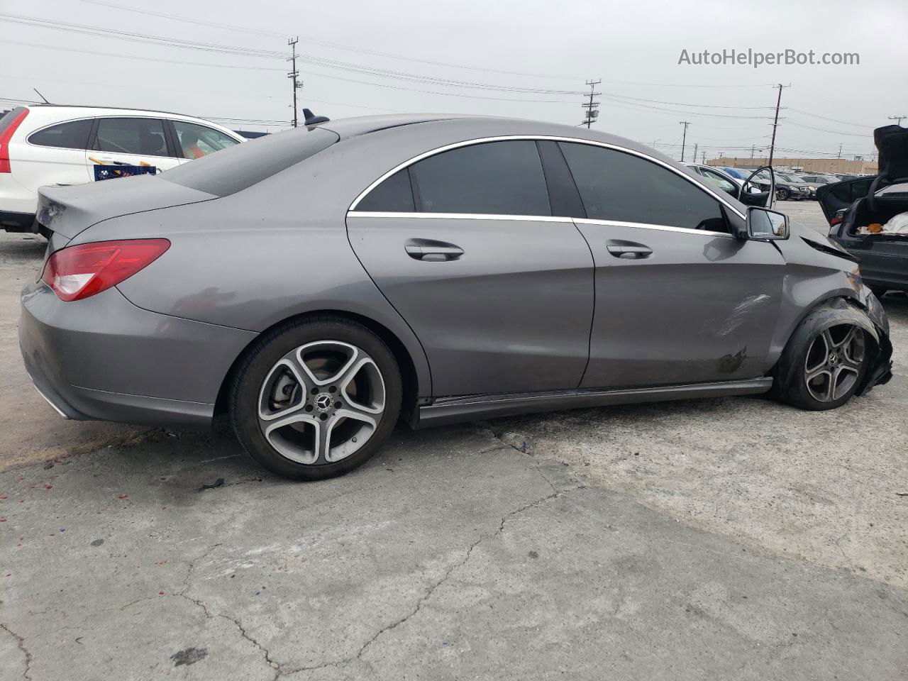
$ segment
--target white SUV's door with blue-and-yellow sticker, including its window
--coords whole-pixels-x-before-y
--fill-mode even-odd
[[[153,168],[155,173],[179,165],[168,143],[163,119],[141,116],[96,119],[85,163],[93,180],[104,180]]]

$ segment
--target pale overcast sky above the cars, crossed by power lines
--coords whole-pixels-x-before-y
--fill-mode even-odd
[[[776,146],[798,150],[780,156],[834,155],[840,143],[846,157],[873,153],[873,128],[908,114],[905,0],[4,0],[0,19],[2,97],[34,100],[36,87],[54,103],[238,119],[222,121],[234,129],[291,119],[281,56],[291,35],[301,106],[331,118],[432,112],[576,125],[583,97],[572,93],[601,78],[594,127],[679,157],[678,122],[689,121],[689,159],[694,143],[707,158],[768,146],[775,83],[791,84]],[[678,64],[685,49],[732,48],[854,52],[860,64]],[[543,90],[556,92],[533,92]]]

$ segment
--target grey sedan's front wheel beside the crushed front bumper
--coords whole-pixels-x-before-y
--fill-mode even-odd
[[[804,410],[831,410],[851,399],[867,371],[867,334],[851,323],[795,332],[782,360],[790,369],[782,398]],[[809,329],[809,331],[808,331]]]

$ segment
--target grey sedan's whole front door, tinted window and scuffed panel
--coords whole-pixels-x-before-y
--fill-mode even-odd
[[[666,163],[559,143],[587,213],[596,313],[581,387],[750,379],[766,370],[785,261],[741,241],[736,210]]]

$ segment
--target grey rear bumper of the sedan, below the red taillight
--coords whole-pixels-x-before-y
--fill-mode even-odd
[[[255,336],[144,311],[116,289],[63,302],[38,282],[22,295],[25,369],[68,419],[205,427],[233,360]]]

